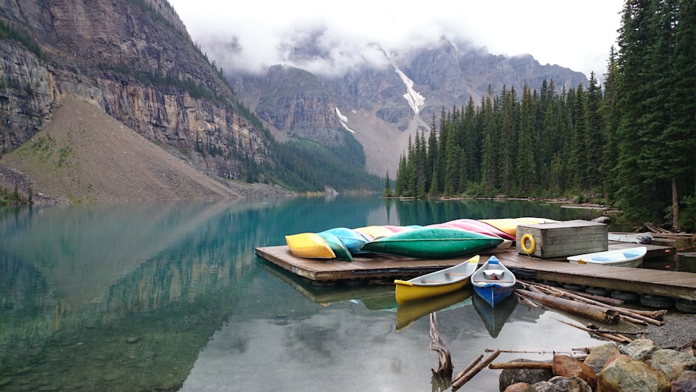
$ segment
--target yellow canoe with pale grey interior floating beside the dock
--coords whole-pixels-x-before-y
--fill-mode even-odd
[[[464,288],[477,267],[480,257],[473,256],[461,264],[418,276],[409,281],[397,279],[396,301],[399,304],[416,299],[435,297]]]

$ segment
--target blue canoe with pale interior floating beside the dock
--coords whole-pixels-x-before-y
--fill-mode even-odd
[[[476,295],[493,307],[514,292],[515,283],[515,275],[496,256],[491,256],[471,275]]]

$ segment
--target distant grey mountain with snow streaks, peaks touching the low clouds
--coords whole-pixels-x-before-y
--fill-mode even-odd
[[[295,50],[300,58],[317,55],[312,47]],[[313,75],[289,65],[271,66],[262,75],[235,70],[227,75],[239,99],[277,138],[332,143],[347,130],[363,146],[368,170],[388,171],[392,178],[416,130],[428,131],[434,116],[464,107],[469,98],[480,104],[489,86],[497,95],[503,86],[522,91],[527,84],[538,90],[544,80],[553,80],[559,89],[587,85],[583,73],[540,65],[531,55],[496,56],[446,38],[409,56],[383,53],[389,67],[363,66],[340,76]]]

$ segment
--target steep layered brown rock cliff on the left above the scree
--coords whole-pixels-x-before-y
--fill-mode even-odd
[[[215,175],[267,159],[267,136],[165,0],[3,1],[0,22],[0,154],[74,96]]]

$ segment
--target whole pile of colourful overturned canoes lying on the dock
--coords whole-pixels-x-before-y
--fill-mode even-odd
[[[331,228],[286,235],[290,251],[302,258],[351,261],[361,253],[406,258],[458,258],[508,247],[519,224],[553,222],[541,218],[454,219],[428,226]]]

